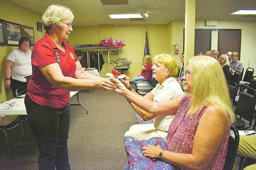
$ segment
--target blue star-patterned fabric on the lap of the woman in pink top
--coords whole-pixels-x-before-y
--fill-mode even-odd
[[[147,144],[160,145],[162,149],[168,150],[163,138],[152,137],[149,140],[137,141],[133,137],[124,137],[124,147],[128,158],[128,168],[131,169],[152,169],[152,170],[178,170],[177,166],[164,162],[162,159],[152,161],[142,153],[142,147]]]

